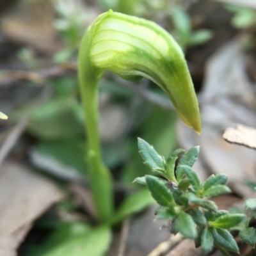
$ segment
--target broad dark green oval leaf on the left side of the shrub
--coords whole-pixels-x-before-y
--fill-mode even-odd
[[[152,175],[146,176],[147,186],[153,198],[159,205],[168,207],[172,204],[173,196],[162,180]]]

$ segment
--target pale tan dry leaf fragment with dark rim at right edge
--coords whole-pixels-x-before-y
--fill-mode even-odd
[[[234,144],[256,149],[256,129],[246,125],[237,124],[236,127],[228,127],[223,138]]]

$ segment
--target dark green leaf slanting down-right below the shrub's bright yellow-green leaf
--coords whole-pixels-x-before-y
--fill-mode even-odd
[[[216,244],[231,252],[239,252],[237,243],[228,230],[222,228],[211,228],[211,233]]]

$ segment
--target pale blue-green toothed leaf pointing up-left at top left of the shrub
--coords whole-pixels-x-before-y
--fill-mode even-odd
[[[156,152],[154,147],[141,138],[138,138],[138,147],[145,164],[147,164],[152,170],[164,170],[164,159]]]

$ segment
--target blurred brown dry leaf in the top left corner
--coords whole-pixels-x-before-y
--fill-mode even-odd
[[[8,38],[32,45],[43,52],[55,52],[61,45],[53,27],[54,12],[50,1],[19,4],[1,19],[1,31]]]

